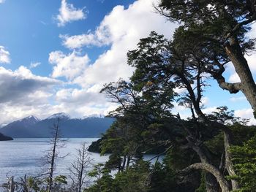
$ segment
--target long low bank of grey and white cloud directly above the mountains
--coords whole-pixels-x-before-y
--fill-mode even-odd
[[[53,113],[66,112],[74,117],[91,114],[107,115],[116,108],[99,85],[86,89],[61,88],[59,80],[32,74],[25,66],[11,71],[0,67],[0,124],[35,115],[47,118]]]

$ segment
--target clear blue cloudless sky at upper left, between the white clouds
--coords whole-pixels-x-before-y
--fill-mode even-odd
[[[127,7],[131,3],[127,0],[69,1],[68,4],[83,9],[86,19],[58,27],[55,18],[59,14],[61,1],[4,1],[0,6],[0,42],[12,53],[12,64],[6,67],[13,70],[20,65],[40,61],[43,65],[34,71],[39,75],[50,74],[48,53],[52,50],[68,51],[61,45],[59,34],[75,35],[93,31],[117,4]],[[91,59],[96,59],[104,50],[90,48],[85,51]]]

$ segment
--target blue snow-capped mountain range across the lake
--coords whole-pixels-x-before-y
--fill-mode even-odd
[[[61,137],[101,137],[113,123],[113,118],[91,116],[89,118],[70,118],[65,113],[57,113],[39,120],[34,116],[23,118],[0,128],[2,134],[13,138],[52,137],[51,128],[60,119]]]

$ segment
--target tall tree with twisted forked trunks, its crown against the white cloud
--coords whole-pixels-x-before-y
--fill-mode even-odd
[[[176,31],[174,37],[180,35],[179,31],[180,29]],[[222,191],[228,191],[229,183],[225,180],[219,167],[214,164],[214,158],[204,145],[207,139],[214,137],[214,134],[207,134],[207,130],[215,134],[223,131],[225,168],[230,176],[235,174],[229,150],[232,136],[230,129],[218,121],[209,119],[201,110],[201,99],[207,85],[207,77],[204,76],[204,73],[208,61],[203,60],[205,53],[201,49],[197,49],[197,42],[195,42],[195,49],[191,47],[187,49],[186,42],[176,41],[177,39],[174,39],[169,42],[155,32],[152,32],[148,38],[140,39],[138,49],[128,53],[128,63],[136,68],[131,80],[135,83],[135,87],[138,86],[142,92],[153,86],[154,91],[159,93],[163,87],[172,88],[167,86],[167,83],[170,84],[170,82],[173,82],[173,85],[178,88],[187,90],[185,97],[182,97],[182,102],[184,104],[185,101],[189,104],[194,125],[187,128],[186,125],[183,126],[180,123],[180,126],[187,132],[187,147],[195,150],[201,161],[200,164],[189,166],[189,169],[204,169],[210,173],[206,174],[208,191],[217,191],[214,178],[211,178],[212,175],[218,181]],[[195,118],[194,111],[197,118]],[[180,122],[182,121],[180,120]],[[236,180],[232,180],[232,188],[234,190],[238,188]]]

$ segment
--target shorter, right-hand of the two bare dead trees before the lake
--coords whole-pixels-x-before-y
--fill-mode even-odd
[[[86,184],[86,176],[88,169],[91,165],[91,157],[89,156],[88,147],[84,142],[81,147],[77,150],[78,156],[72,163],[69,172],[71,172],[72,188],[74,191],[81,192],[82,188]]]

